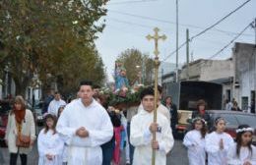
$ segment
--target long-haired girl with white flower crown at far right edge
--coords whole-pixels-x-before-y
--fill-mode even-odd
[[[236,143],[228,149],[229,165],[256,165],[256,147],[252,145],[254,129],[241,125],[236,130]]]

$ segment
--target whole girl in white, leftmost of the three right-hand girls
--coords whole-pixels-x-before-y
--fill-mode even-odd
[[[206,121],[202,118],[195,118],[192,121],[192,127],[193,130],[188,132],[183,139],[183,144],[188,148],[189,165],[205,165]]]

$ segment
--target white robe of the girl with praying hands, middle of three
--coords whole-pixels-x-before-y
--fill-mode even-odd
[[[224,149],[220,148],[220,141],[224,140]],[[226,165],[227,150],[233,145],[233,138],[228,134],[213,132],[206,136],[206,151],[208,152],[208,165]]]

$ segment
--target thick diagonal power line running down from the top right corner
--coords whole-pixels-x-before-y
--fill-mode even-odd
[[[218,21],[217,23],[215,23],[214,25],[207,27],[206,29],[202,30],[201,32],[199,32],[198,34],[192,36],[189,38],[189,42],[191,42],[193,39],[195,39],[196,37],[202,35],[203,33],[205,33],[206,31],[208,31],[209,29],[219,25],[220,23],[222,23],[227,17],[229,17],[230,15],[232,15],[233,13],[235,13],[236,11],[238,11],[239,9],[241,9],[245,4],[247,4],[248,2],[250,2],[251,0],[247,0],[245,1],[242,5],[240,5],[239,7],[237,7],[236,9],[234,9],[233,11],[231,11],[230,13],[228,13],[226,16],[224,16],[224,18],[222,18],[220,21]],[[240,33],[238,33],[238,35],[240,35]],[[174,50],[173,52],[171,52],[167,57],[165,57],[164,61],[166,59],[168,59],[170,56],[172,56],[176,51],[180,50],[184,45],[186,45],[186,41],[184,43],[182,43],[176,50]]]

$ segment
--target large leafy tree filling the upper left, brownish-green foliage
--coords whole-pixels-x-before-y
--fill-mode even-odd
[[[51,75],[67,90],[69,79],[76,83],[86,75],[81,73],[103,74],[94,41],[96,33],[104,27],[96,26],[106,14],[104,3],[101,0],[0,2],[0,68],[9,68],[17,94],[25,94],[35,75],[43,84],[48,83]],[[89,79],[98,82],[104,77],[90,75]]]

